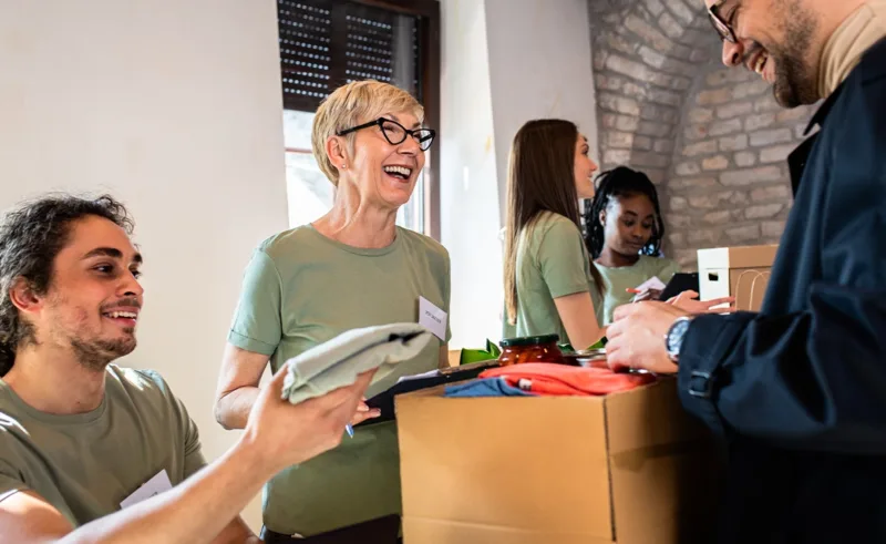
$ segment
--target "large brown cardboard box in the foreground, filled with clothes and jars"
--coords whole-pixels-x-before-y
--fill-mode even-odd
[[[398,397],[405,544],[710,543],[719,454],[664,379],[607,397]]]

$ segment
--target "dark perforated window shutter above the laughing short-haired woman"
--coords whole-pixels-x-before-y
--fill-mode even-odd
[[[315,111],[367,79],[422,100],[420,18],[340,0],[277,0],[277,14],[285,109]]]

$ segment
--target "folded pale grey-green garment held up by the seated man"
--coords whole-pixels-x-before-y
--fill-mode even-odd
[[[350,386],[357,377],[379,369],[373,381],[393,365],[418,356],[433,338],[419,324],[392,324],[351,329],[286,361],[282,398],[292,404]]]

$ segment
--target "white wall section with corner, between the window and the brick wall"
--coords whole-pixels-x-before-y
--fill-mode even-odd
[[[452,256],[451,347],[501,338],[507,162],[532,119],[579,125],[597,150],[586,0],[442,0],[443,244]]]

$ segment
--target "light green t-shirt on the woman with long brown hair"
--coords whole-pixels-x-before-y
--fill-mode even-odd
[[[505,312],[505,337],[557,333],[560,342],[568,342],[554,299],[577,292],[590,292],[595,317],[600,322],[602,305],[591,266],[575,223],[559,214],[542,213],[518,240],[517,325],[509,326]]]

